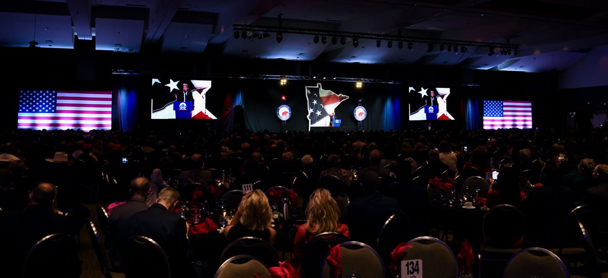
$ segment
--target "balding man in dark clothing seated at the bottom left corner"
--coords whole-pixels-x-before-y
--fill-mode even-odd
[[[54,186],[40,183],[32,189],[27,208],[0,211],[0,269],[3,277],[20,277],[32,246],[50,234],[69,234],[72,222],[52,211]]]

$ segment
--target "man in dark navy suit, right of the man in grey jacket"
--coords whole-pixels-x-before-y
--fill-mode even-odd
[[[167,253],[171,276],[188,277],[192,273],[192,246],[185,220],[173,213],[178,203],[179,192],[174,188],[163,188],[154,205],[131,216],[128,235],[154,240]]]

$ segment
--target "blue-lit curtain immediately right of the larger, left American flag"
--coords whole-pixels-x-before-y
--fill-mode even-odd
[[[114,94],[114,128],[125,131],[134,129],[137,125],[137,103],[136,89],[129,82],[120,82]],[[149,104],[149,103],[148,103]],[[150,106],[144,106],[150,107]]]

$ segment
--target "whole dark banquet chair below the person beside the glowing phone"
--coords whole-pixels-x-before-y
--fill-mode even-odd
[[[522,211],[511,205],[490,209],[482,220],[483,242],[478,254],[478,271],[482,276],[482,262],[500,263],[500,269],[513,254],[521,251],[526,234],[526,219]],[[491,270],[498,269],[492,267]],[[492,276],[488,274],[486,276]]]

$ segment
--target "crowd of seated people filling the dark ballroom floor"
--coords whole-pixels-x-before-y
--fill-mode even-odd
[[[232,240],[237,237],[232,235],[235,232],[260,234],[268,230],[268,235],[263,236],[274,243],[274,229],[269,227],[268,219],[258,213],[252,216],[251,212],[268,214],[271,207],[262,191],[276,185],[290,188],[291,181],[286,181],[282,174],[302,172],[308,180],[306,186],[299,187],[300,204],[309,203],[305,206],[309,223],[301,228],[305,230],[299,231],[308,235],[303,237],[303,242],[321,230],[333,230],[348,231],[353,240],[373,246],[382,223],[395,213],[408,216],[416,235],[428,234],[430,227],[424,210],[430,198],[425,194],[426,183],[420,187],[413,178],[420,176],[429,180],[442,175],[485,178],[492,169],[499,169],[498,181],[490,179],[491,186],[484,194],[486,205],[491,208],[509,204],[522,209],[528,222],[536,224],[528,227],[530,235],[526,244],[550,246],[555,243],[556,235],[547,234],[544,227],[559,225],[577,204],[605,209],[602,204],[607,203],[601,202],[607,198],[604,167],[608,162],[607,132],[596,129],[592,137],[577,136],[572,131],[554,129],[232,134],[195,130],[2,131],[0,208],[22,210],[31,200],[28,195],[32,189],[41,183],[52,183],[57,186],[56,210],[72,211],[80,221],[87,217],[83,203],[111,203],[117,201],[112,197],[122,194],[116,203],[118,206],[110,212],[114,223],[126,215],[122,211],[127,205],[137,202],[137,209],[128,209],[130,220],[126,226],[131,227],[136,210],[145,209],[142,205],[156,207],[159,215],[162,215],[161,209],[173,213],[174,203],[184,197],[179,195],[179,190],[190,183],[200,183],[216,192],[215,196],[221,196],[231,189],[241,189],[244,184],[266,181],[266,187],[254,188],[261,191],[245,195],[235,215],[237,221],[224,232],[227,240]],[[58,153],[69,154],[66,161],[55,161]],[[97,185],[100,172],[115,180],[116,190],[122,193],[100,192],[100,198],[95,200],[97,194],[91,186]],[[216,178],[223,177],[222,172],[234,179],[215,188]],[[323,228],[325,225],[316,223],[319,220],[315,220],[313,213],[316,203],[312,197],[309,202],[307,197],[311,193],[317,195],[315,192],[323,195],[325,191],[315,190],[324,186],[323,178],[327,176],[337,177],[344,185],[342,193],[348,194],[350,206],[347,211],[339,211],[345,214],[344,223],[331,218],[331,225]],[[137,177],[145,177],[150,182]],[[455,180],[458,183],[462,178]],[[460,185],[454,187],[460,191]],[[131,198],[127,200],[129,190]],[[53,204],[50,205],[54,211]],[[120,206],[125,207],[116,212]],[[322,209],[335,212],[333,205]],[[0,215],[0,225],[7,225],[7,212]],[[142,215],[137,218],[140,222],[145,220]],[[175,225],[182,224],[177,223],[178,219],[169,219],[168,214],[165,216]],[[537,221],[539,219],[542,221]],[[600,218],[598,240],[606,239],[606,225],[602,221]],[[125,223],[119,229],[124,231]],[[148,231],[128,228],[128,234],[143,233]],[[178,233],[182,233],[181,227]],[[183,234],[185,239],[185,230]],[[179,240],[184,239],[180,236]],[[183,256],[188,254],[186,247],[180,251]]]

